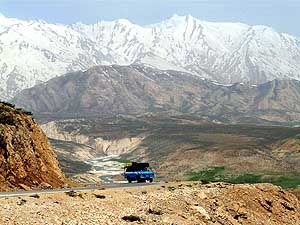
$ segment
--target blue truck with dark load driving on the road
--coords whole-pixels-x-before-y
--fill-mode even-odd
[[[129,183],[132,181],[137,181],[138,183],[149,181],[152,183],[154,172],[151,171],[149,163],[125,163],[124,177]]]

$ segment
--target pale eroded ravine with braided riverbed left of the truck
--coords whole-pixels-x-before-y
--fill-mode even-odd
[[[137,136],[106,140],[104,137],[89,137],[79,134],[76,130],[72,132],[61,130],[56,122],[43,124],[42,128],[51,139],[74,142],[90,147],[92,151],[89,151],[89,154],[85,157],[79,154],[82,153],[80,147],[73,149],[72,156],[77,157],[78,161],[91,165],[92,170],[88,173],[95,175],[100,182],[105,183],[120,182],[114,181],[112,178],[123,173],[123,163],[118,160],[120,155],[136,150],[145,138],[144,136]]]

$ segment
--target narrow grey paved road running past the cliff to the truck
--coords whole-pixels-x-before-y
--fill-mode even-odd
[[[31,190],[31,191],[16,191],[16,192],[0,192],[0,198],[3,197],[18,197],[34,194],[46,194],[46,193],[59,193],[68,191],[90,191],[90,190],[103,190],[103,189],[113,189],[113,188],[131,188],[138,186],[150,186],[157,183],[115,183],[115,184],[105,184],[101,186],[88,186],[88,187],[75,187],[75,188],[62,188],[62,189],[49,189],[49,190]]]

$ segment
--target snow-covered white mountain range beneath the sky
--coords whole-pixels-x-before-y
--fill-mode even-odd
[[[49,24],[0,14],[0,96],[13,97],[66,72],[95,65],[147,64],[223,84],[300,80],[300,38],[266,26],[174,15],[139,26],[128,20]]]

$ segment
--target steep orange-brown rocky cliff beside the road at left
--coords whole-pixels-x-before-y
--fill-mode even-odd
[[[0,190],[66,182],[48,139],[26,113],[0,103]]]

